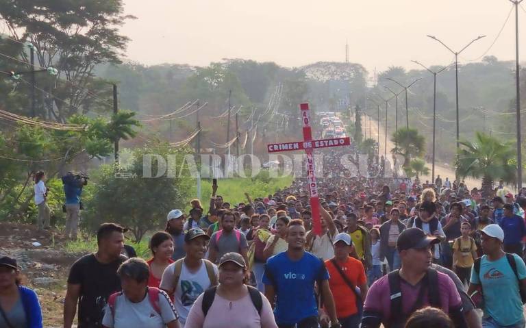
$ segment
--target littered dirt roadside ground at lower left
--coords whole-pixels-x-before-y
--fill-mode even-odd
[[[65,253],[64,244],[64,238],[52,230],[40,233],[31,225],[0,223],[0,254],[18,261],[23,284],[38,294],[47,328],[62,327],[68,270],[82,255]]]

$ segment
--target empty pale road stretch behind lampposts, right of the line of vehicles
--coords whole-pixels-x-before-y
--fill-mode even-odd
[[[365,125],[365,119],[366,119],[366,116],[362,116],[362,131],[367,131],[368,132],[368,122],[367,122],[367,125]],[[385,152],[385,141],[386,141],[386,134],[385,134],[385,127],[383,125],[381,125],[380,123],[380,155],[384,155],[384,152]],[[371,119],[371,136],[373,139],[377,140],[377,136],[378,136],[378,126],[377,126],[377,122],[376,122],[376,119],[375,118],[372,118]],[[388,136],[387,136],[387,157],[388,157],[388,160],[391,162],[392,164],[392,158],[390,156],[390,150],[395,148],[395,145],[391,142],[390,140],[390,137],[391,135],[389,134],[388,132]],[[432,142],[432,140],[427,140],[427,142]],[[440,142],[440,140],[437,140],[437,142]],[[445,163],[444,163],[445,164]],[[435,164],[435,175],[440,175],[440,177],[442,178],[442,181],[445,181],[446,177],[449,177],[449,180],[453,181],[455,179],[455,171],[453,171],[453,169],[449,166],[447,166],[448,164],[438,164],[436,163]],[[429,175],[423,175],[420,177],[420,181],[425,181],[425,180],[429,180],[431,181],[431,163],[429,163],[428,165],[429,167]],[[468,178],[466,177],[466,179],[464,179],[464,181],[466,181],[466,185],[468,186],[468,188],[480,188],[481,184],[482,184],[482,181],[480,179],[473,179],[473,178]]]

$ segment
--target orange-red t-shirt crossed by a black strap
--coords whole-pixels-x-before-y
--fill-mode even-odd
[[[338,266],[340,265],[338,263]],[[345,318],[357,314],[358,307],[356,307],[355,293],[345,283],[345,280],[338,273],[338,269],[334,267],[331,260],[325,261],[325,266],[329,271],[329,287],[334,297],[334,303],[336,303],[336,316]],[[366,283],[364,265],[361,261],[353,257],[347,257],[347,262],[340,268],[354,286],[362,286]]]

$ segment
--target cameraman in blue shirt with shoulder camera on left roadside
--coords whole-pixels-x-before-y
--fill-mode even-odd
[[[64,194],[66,196],[66,203],[64,204],[66,237],[77,239],[80,210],[82,210],[80,195],[82,194],[82,188],[88,184],[88,177],[68,172],[67,175],[62,177],[62,184],[64,185]]]

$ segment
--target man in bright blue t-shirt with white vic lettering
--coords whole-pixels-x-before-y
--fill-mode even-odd
[[[325,313],[319,313],[321,323],[339,327],[336,307],[329,288],[329,273],[323,261],[305,252],[306,242],[303,221],[291,220],[288,224],[288,249],[268,259],[263,283],[265,296],[274,307],[274,316],[279,328],[318,327],[318,302],[314,294],[314,283],[318,283],[325,305]],[[274,305],[274,299],[275,305]]]

